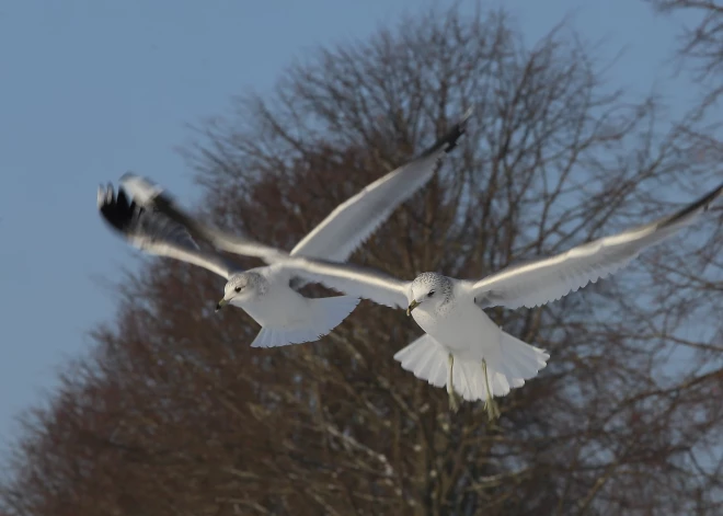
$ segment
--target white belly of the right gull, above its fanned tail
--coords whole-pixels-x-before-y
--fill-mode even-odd
[[[481,362],[500,354],[502,331],[471,300],[458,300],[444,316],[417,308],[412,317],[422,330],[459,358]]]

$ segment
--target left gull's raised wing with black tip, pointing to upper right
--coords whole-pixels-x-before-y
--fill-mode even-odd
[[[457,146],[457,140],[464,134],[471,114],[470,108],[445,136],[417,158],[389,172],[338,205],[289,254],[346,262],[354,250],[364,243],[399,205],[429,182],[441,165],[445,154]]]

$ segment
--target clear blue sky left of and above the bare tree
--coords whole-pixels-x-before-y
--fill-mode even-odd
[[[498,2],[502,0],[498,0]],[[449,2],[437,2],[445,5]],[[472,1],[461,2],[470,12]],[[100,182],[147,174],[185,204],[186,128],[264,91],[294,57],[364,38],[426,0],[5,0],[0,3],[0,446],[15,415],[51,389],[58,367],[113,318],[113,279],[137,253],[103,226]],[[500,3],[484,3],[494,7]],[[666,85],[678,23],[641,0],[505,0],[528,43],[566,14],[601,57],[626,54],[612,84]],[[5,440],[3,443],[3,440]]]

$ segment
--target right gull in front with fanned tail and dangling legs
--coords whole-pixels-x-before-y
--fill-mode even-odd
[[[483,310],[496,306],[533,308],[596,283],[689,226],[722,193],[723,184],[662,219],[551,257],[509,266],[482,279],[426,272],[410,282],[352,264],[284,257],[275,250],[259,250],[257,255],[308,282],[391,308],[406,308],[406,314],[425,334],[399,351],[394,359],[417,378],[446,387],[454,412],[459,408],[458,397],[484,400],[487,416],[494,421],[500,416],[494,397],[504,397],[535,378],[550,355],[504,332]],[[172,205],[159,209],[171,217],[177,215]],[[204,234],[203,229],[198,237],[208,237],[226,249],[244,245],[242,238]]]

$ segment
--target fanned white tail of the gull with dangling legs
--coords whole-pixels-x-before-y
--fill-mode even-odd
[[[550,355],[539,347],[500,331],[501,358],[486,360],[487,380],[493,395],[506,395],[509,389],[523,387],[547,366]],[[422,335],[394,355],[402,368],[435,387],[447,386],[449,351],[428,334]],[[485,400],[484,369],[478,360],[455,357],[452,367],[455,391],[468,401]]]

